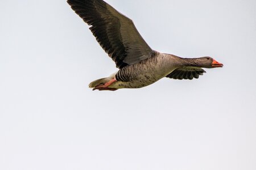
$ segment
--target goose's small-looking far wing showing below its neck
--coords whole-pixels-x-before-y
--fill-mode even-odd
[[[199,75],[203,75],[204,73],[206,73],[206,71],[200,67],[179,67],[172,71],[172,73],[168,74],[166,77],[179,80],[192,80],[193,78],[199,78]]]

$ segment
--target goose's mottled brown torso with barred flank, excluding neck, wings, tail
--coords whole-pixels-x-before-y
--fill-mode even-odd
[[[170,74],[178,65],[172,61],[174,56],[155,52],[153,57],[144,59],[139,63],[125,66],[115,74],[114,82],[110,88],[141,88],[155,83]],[[161,71],[159,71],[159,68]]]

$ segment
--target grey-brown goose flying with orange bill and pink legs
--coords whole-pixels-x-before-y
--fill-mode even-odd
[[[152,50],[133,21],[105,1],[67,2],[90,25],[90,31],[119,69],[109,77],[90,83],[89,88],[93,90],[141,88],[164,77],[192,80],[206,73],[202,68],[223,67],[212,57],[182,58]]]

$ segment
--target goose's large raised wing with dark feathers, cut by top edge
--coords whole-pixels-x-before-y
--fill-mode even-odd
[[[102,0],[68,0],[101,47],[118,68],[150,58],[154,51],[143,40],[133,21]]]

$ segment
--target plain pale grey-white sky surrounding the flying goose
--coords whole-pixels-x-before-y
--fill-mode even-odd
[[[66,1],[0,6],[0,169],[255,170],[256,1],[106,1],[195,80],[92,91],[117,69]]]

